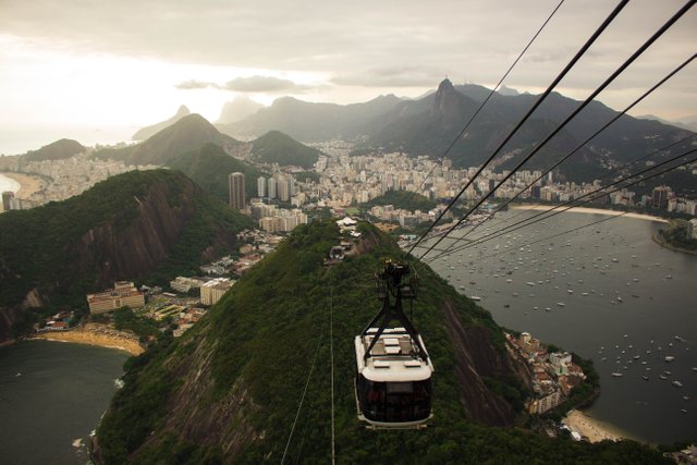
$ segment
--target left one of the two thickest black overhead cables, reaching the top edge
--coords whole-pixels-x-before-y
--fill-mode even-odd
[[[552,83],[547,87],[547,89],[539,96],[537,101],[530,107],[530,109],[525,113],[525,115],[518,121],[515,127],[509,133],[509,135],[499,144],[499,146],[493,150],[493,152],[489,156],[489,158],[481,164],[481,167],[477,170],[475,175],[465,184],[465,186],[457,193],[457,195],[448,204],[445,209],[441,211],[441,213],[436,218],[436,220],[430,224],[428,230],[421,234],[421,236],[416,241],[416,243],[409,248],[407,254],[411,254],[416,246],[428,235],[429,232],[438,224],[438,222],[443,218],[443,216],[457,203],[460,197],[465,193],[467,187],[472,185],[474,180],[485,170],[485,168],[496,158],[496,156],[501,151],[501,149],[509,143],[509,140],[517,133],[517,131],[523,126],[523,124],[530,118],[530,115],[537,110],[537,108],[542,105],[542,101],[549,96],[554,87],[568,74],[572,68],[580,60],[580,58],[588,51],[590,46],[600,37],[600,35],[608,28],[610,23],[620,14],[622,9],[626,7],[629,0],[621,0],[620,3],[614,8],[614,10],[610,13],[610,15],[602,22],[602,24],[596,29],[596,32],[590,36],[588,40],[583,45],[583,47],[576,52],[576,54],[571,59],[571,61],[564,66],[564,69],[559,73],[559,75],[552,81]]]

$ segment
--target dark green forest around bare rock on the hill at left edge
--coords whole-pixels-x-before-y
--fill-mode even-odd
[[[145,221],[139,206],[157,193],[167,199],[166,207],[172,212],[182,208],[189,211],[169,257],[155,264],[156,269],[132,267],[133,276],[109,276],[103,262],[126,252],[112,250],[99,238],[119,243],[139,234],[140,230],[134,229],[138,221]],[[110,286],[114,279],[155,283],[195,271],[204,262],[204,252],[220,256],[234,249],[236,232],[249,227],[247,218],[206,196],[181,173],[154,170],[112,176],[64,201],[0,216],[0,302],[12,307],[38,289],[42,296],[50,297],[48,313],[61,305],[80,308],[85,305],[86,293]],[[148,244],[161,241],[148,238],[152,241]],[[29,315],[20,325],[30,328],[35,320]]]

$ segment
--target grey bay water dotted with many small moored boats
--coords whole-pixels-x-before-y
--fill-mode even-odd
[[[516,215],[535,212],[497,219]],[[658,246],[651,235],[659,223],[626,217],[524,245],[603,218],[562,213],[431,266],[461,292],[480,296],[499,325],[592,358],[601,395],[589,415],[643,441],[695,439],[697,256]],[[499,229],[490,223],[473,235]]]

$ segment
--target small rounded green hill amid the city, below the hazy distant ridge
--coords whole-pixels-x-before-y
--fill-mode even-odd
[[[252,143],[252,157],[256,161],[281,167],[313,168],[320,155],[316,148],[307,147],[280,131],[270,131]]]

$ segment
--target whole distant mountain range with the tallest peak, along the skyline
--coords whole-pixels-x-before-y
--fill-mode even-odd
[[[436,93],[417,100],[386,96],[365,103],[339,106],[286,97],[243,121],[219,127],[227,134],[245,137],[278,130],[302,142],[355,139],[362,150],[399,150],[412,156],[439,157],[489,93],[490,89],[479,85],[454,86],[445,79]],[[538,97],[508,88],[497,93],[454,145],[449,158],[457,167],[481,163]],[[579,103],[558,93],[551,94],[504,147],[508,157],[499,159],[498,169],[514,167]],[[526,168],[551,166],[616,114],[601,102],[591,102]],[[623,115],[560,166],[558,174],[575,181],[592,180],[607,171],[604,167],[609,161],[638,158],[688,134],[685,129],[659,121]]]

